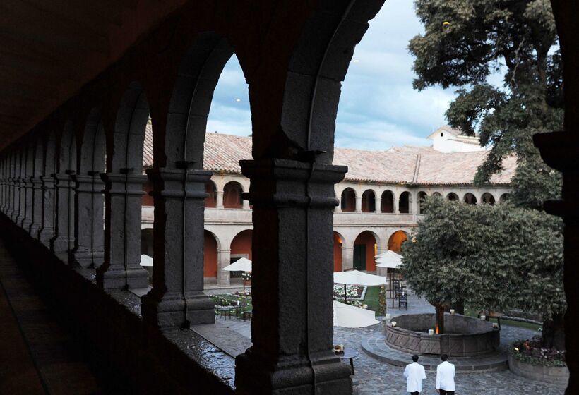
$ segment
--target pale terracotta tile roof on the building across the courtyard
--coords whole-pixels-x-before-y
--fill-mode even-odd
[[[153,164],[153,138],[150,127],[145,133],[143,166]],[[150,146],[149,146],[150,145]],[[336,148],[335,164],[348,166],[346,180],[373,183],[418,183],[431,185],[470,184],[487,152],[443,153],[432,147],[393,147],[388,151]],[[205,135],[203,168],[215,172],[241,174],[239,161],[251,159],[251,138],[222,133]],[[504,170],[491,178],[492,183],[511,182],[516,160],[503,162]]]

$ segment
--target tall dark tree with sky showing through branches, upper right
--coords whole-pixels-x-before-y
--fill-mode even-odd
[[[515,154],[512,202],[542,207],[559,197],[561,176],[532,145],[532,135],[563,126],[561,54],[549,0],[417,0],[424,35],[410,41],[414,88],[460,87],[446,117],[491,144],[476,183],[487,183]],[[503,74],[503,87],[487,83]]]

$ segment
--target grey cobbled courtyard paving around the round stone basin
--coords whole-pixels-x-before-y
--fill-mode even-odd
[[[434,312],[434,308],[425,300],[414,295],[408,298],[408,310],[399,311],[391,308],[388,300],[388,313],[393,317],[400,314],[414,314],[420,312]],[[212,326],[213,327],[213,326]],[[227,327],[249,339],[249,321],[217,319],[216,327]],[[372,358],[362,351],[362,338],[381,332],[380,324],[371,327],[348,329],[334,327],[334,344],[345,344],[359,352],[354,359],[356,375],[352,376],[354,394],[356,395],[403,395],[406,394],[406,383],[403,377],[404,368],[388,365],[381,360]],[[538,332],[518,327],[503,325],[501,330],[501,344],[509,344],[517,339],[527,339]],[[409,361],[410,362],[410,361]],[[452,361],[451,361],[452,362]],[[422,395],[435,395],[435,372],[426,372]],[[458,395],[562,395],[564,388],[554,387],[551,384],[535,382],[513,375],[509,370],[501,372],[458,372],[456,375]]]

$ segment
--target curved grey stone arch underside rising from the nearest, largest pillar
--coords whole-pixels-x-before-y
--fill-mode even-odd
[[[329,2],[318,6],[306,20],[287,70],[277,140],[290,141],[297,151],[320,152],[321,163],[332,162],[341,82],[354,46],[382,4],[383,0],[354,0],[340,5]],[[261,129],[254,128],[256,133],[261,134]],[[254,156],[261,157],[262,152],[271,149],[272,137],[258,137],[253,151]],[[287,156],[283,152],[274,155]]]

